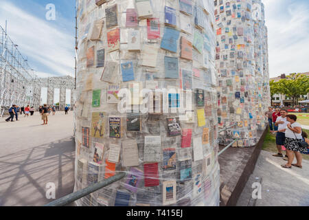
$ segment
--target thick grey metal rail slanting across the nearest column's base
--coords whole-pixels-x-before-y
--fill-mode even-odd
[[[73,192],[65,197],[52,201],[51,203],[46,204],[45,206],[65,206],[73,201],[76,201],[82,197],[89,195],[92,192],[100,190],[100,188],[104,188],[109,184],[113,184],[115,181],[118,181],[126,176],[126,173],[118,173],[117,175],[110,177],[108,179],[104,179],[92,186],[88,186],[87,188],[83,188],[82,190],[78,190],[77,192]]]

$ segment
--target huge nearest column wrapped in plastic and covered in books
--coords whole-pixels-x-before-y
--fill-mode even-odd
[[[218,206],[214,2],[78,1],[79,206]]]

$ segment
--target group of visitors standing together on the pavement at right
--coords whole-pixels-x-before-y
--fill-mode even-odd
[[[308,134],[301,129],[301,124],[297,122],[297,116],[288,114],[286,109],[268,108],[265,112],[268,118],[268,124],[271,133],[276,133],[276,144],[278,153],[274,157],[283,157],[287,161],[283,164],[283,168],[302,168],[301,154],[308,154],[309,140]],[[286,155],[282,154],[282,147],[286,149]],[[293,164],[294,155],[296,157],[296,164]]]

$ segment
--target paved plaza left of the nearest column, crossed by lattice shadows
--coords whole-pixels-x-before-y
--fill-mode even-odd
[[[46,184],[56,199],[73,192],[75,144],[73,113],[57,112],[49,124],[41,116],[5,122],[0,118],[0,206],[43,206]]]

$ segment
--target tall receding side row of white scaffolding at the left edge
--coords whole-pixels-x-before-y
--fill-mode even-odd
[[[21,55],[5,29],[0,26],[0,117],[12,104],[37,106],[40,102],[40,79]]]

